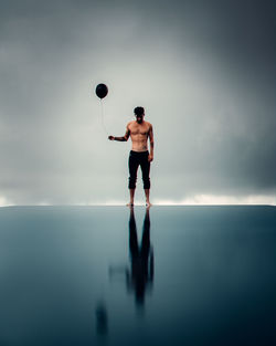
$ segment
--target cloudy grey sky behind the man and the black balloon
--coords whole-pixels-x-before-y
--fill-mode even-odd
[[[0,0],[0,206],[127,201],[136,106],[152,202],[275,205],[275,62],[276,1]]]

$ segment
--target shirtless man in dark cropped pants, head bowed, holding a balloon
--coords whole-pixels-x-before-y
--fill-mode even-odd
[[[132,140],[132,148],[129,153],[128,168],[129,168],[129,195],[130,201],[128,206],[134,206],[135,188],[137,180],[138,167],[141,167],[144,189],[146,196],[146,205],[151,206],[149,201],[150,190],[150,162],[153,160],[153,130],[152,125],[144,120],[145,109],[144,107],[136,107],[134,109],[136,120],[127,124],[126,134],[123,137],[109,136],[109,140],[127,141],[129,136]],[[150,153],[148,151],[148,138],[150,141]]]

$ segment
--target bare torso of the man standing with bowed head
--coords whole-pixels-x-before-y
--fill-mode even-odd
[[[134,151],[147,151],[148,150],[148,137],[151,130],[151,124],[142,122],[138,124],[136,120],[128,123],[127,129],[132,141]]]

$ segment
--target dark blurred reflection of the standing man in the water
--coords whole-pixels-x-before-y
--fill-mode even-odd
[[[131,259],[131,273],[126,271],[127,287],[134,290],[136,302],[144,304],[147,287],[153,282],[153,250],[150,247],[150,218],[149,208],[146,210],[142,228],[141,245],[138,247],[137,229],[134,208],[130,208],[129,216],[129,250]]]

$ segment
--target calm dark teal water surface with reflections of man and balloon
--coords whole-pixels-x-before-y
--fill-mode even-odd
[[[275,207],[0,209],[0,345],[273,345]]]

